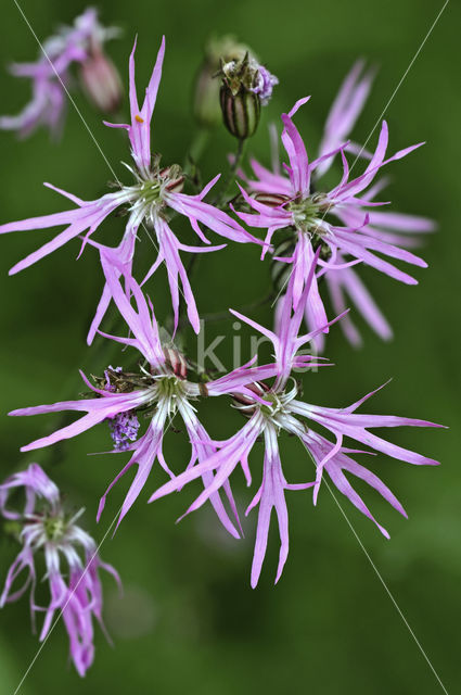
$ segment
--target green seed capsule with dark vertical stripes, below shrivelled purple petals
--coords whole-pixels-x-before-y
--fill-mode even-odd
[[[236,94],[226,83],[220,90],[221,111],[225,126],[235,138],[244,140],[256,132],[260,116],[259,97],[241,87]]]

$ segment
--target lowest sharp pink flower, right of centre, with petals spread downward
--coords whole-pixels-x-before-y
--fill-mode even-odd
[[[320,250],[317,251],[317,257],[319,253]],[[315,261],[317,261],[317,257]],[[294,309],[295,275],[292,274],[276,332],[259,326],[242,314],[233,312],[241,320],[246,321],[272,341],[278,366],[276,381],[269,386],[265,383],[264,380],[259,380],[253,384],[255,397],[252,399],[252,395],[248,396],[247,394],[245,394],[244,397],[236,397],[236,407],[240,407],[240,409],[249,417],[249,420],[244,427],[230,439],[215,442],[218,448],[216,453],[204,463],[185,470],[177,478],[162,485],[150,500],[150,502],[153,502],[170,492],[180,490],[188,482],[191,482],[199,476],[203,476],[204,472],[216,471],[213,482],[205,486],[205,490],[187,510],[185,514],[189,514],[201,507],[210,494],[216,494],[222,484],[228,483],[232,471],[239,464],[249,485],[252,475],[248,456],[256,440],[262,437],[265,442],[262,482],[246,510],[246,514],[248,514],[255,506],[259,507],[251,577],[252,586],[256,586],[261,571],[272,509],[276,510],[278,517],[281,540],[279,566],[276,577],[277,582],[282,573],[289,552],[289,520],[285,491],[304,490],[313,486],[313,502],[316,504],[323,471],[328,473],[340,492],[346,495],[362,514],[376,523],[380,531],[386,538],[388,538],[387,531],[372,516],[364,502],[346,479],[344,471],[351,472],[354,476],[368,482],[368,484],[380,492],[390,505],[406,516],[402,506],[388,488],[374,473],[348,456],[349,453],[360,452],[346,448],[344,438],[349,438],[360,444],[366,444],[374,451],[387,454],[398,460],[414,465],[437,464],[437,462],[432,458],[426,458],[415,452],[392,444],[369,431],[370,428],[375,427],[438,427],[425,420],[357,414],[357,408],[374,392],[369,393],[346,408],[328,408],[310,405],[297,397],[298,386],[292,374],[293,370],[303,366],[303,359],[306,361],[306,356],[300,358],[296,353],[303,344],[310,341],[316,334],[297,336],[302,321],[302,311],[299,307],[308,301],[307,295],[313,285],[313,270],[315,268],[311,266],[306,286]],[[317,330],[322,329],[324,329],[324,327]],[[309,366],[311,362],[307,361],[304,364]],[[258,400],[256,399],[257,394],[259,394]],[[264,399],[264,401],[261,401],[261,399]],[[333,435],[334,441],[330,441],[312,430],[311,424],[321,426],[330,435]],[[295,484],[286,482],[279,451],[279,438],[282,431],[295,435],[307,450],[316,465],[317,475],[315,481]]]

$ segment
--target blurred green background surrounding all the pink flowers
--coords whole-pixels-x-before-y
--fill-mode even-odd
[[[214,31],[233,33],[252,45],[280,79],[265,110],[265,122],[251,143],[268,164],[268,119],[277,118],[295,99],[311,93],[313,99],[297,124],[313,152],[333,96],[357,56],[380,66],[368,108],[355,130],[355,139],[362,141],[441,2],[101,0],[99,7],[104,24],[124,30],[121,38],[108,46],[124,79],[133,36],[139,33],[140,90],[149,78],[162,33],[167,36],[153,131],[155,148],[166,162],[182,161],[195,131],[190,116],[191,90],[205,39]],[[24,0],[22,8],[43,39],[60,22],[71,22],[85,4]],[[307,400],[344,406],[394,377],[369,403],[371,412],[433,419],[451,428],[387,432],[393,441],[443,463],[439,468],[424,469],[384,456],[373,460],[373,469],[398,494],[409,514],[406,521],[372,491],[363,491],[372,511],[389,530],[390,541],[383,539],[347,501],[344,503],[348,518],[450,693],[459,692],[461,647],[460,20],[460,7],[451,1],[386,113],[392,151],[427,141],[424,149],[394,165],[389,174],[395,208],[439,220],[439,232],[427,239],[423,251],[430,268],[417,270],[421,280],[418,288],[400,286],[364,269],[367,282],[395,329],[395,340],[384,344],[361,326],[366,349],[354,351],[341,330],[334,329],[326,354],[337,366],[305,378]],[[37,52],[36,41],[12,0],[2,3],[1,38],[2,66],[11,60],[30,60]],[[1,70],[0,93],[1,112],[15,113],[28,99],[28,86]],[[128,159],[125,135],[105,128],[100,114],[80,93],[75,99],[117,175],[126,178],[119,164]],[[1,132],[0,148],[1,222],[62,210],[65,203],[43,189],[42,181],[91,199],[104,192],[111,178],[72,106],[59,144],[40,130],[23,142]],[[232,148],[232,138],[218,130],[203,161],[205,178],[225,167],[226,154]],[[108,225],[114,242],[121,225],[119,219]],[[98,372],[108,361],[102,339],[91,351],[85,345],[85,331],[101,283],[98,258],[91,250],[76,263],[77,247],[69,244],[27,271],[8,278],[8,269],[39,244],[40,236],[50,237],[48,231],[37,231],[1,239],[2,477],[31,460],[42,464],[76,505],[87,507],[87,528],[101,540],[128,481],[120,482],[112,493],[99,526],[94,521],[98,498],[127,455],[87,455],[108,447],[103,426],[54,452],[21,455],[20,445],[50,431],[55,420],[51,416],[25,420],[7,417],[14,407],[75,397],[81,390],[77,368]],[[141,249],[146,257],[153,253],[146,240]],[[264,295],[269,268],[257,258],[254,249],[234,245],[219,256],[204,258],[193,282],[200,311],[239,308]],[[164,276],[152,295],[163,319],[169,306]],[[253,315],[262,323],[270,321],[269,307]],[[223,329],[230,333],[231,328],[232,321],[214,325],[207,340]],[[244,343],[248,334],[243,330],[239,334]],[[229,348],[220,349],[219,356],[231,364]],[[113,364],[126,359],[118,353],[110,355]],[[236,414],[229,416],[225,408],[208,405],[204,420],[216,437],[240,424]],[[257,447],[253,458],[256,480],[260,453]],[[181,435],[169,435],[167,454],[171,465],[180,469],[188,455]],[[283,459],[292,480],[305,480],[311,473],[309,462],[292,440],[283,443]],[[59,624],[21,692],[422,695],[441,691],[325,489],[317,508],[309,493],[289,493],[291,554],[283,578],[273,587],[278,556],[273,527],[259,586],[252,591],[248,582],[255,519],[245,522],[246,539],[241,542],[222,536],[209,509],[175,526],[199,488],[148,506],[150,492],[163,480],[155,470],[115,539],[108,538],[102,548],[104,559],[119,569],[126,586],[125,598],[119,599],[111,579],[104,581],[106,623],[115,649],[98,631],[95,662],[82,682],[66,662],[67,640]],[[239,476],[235,492],[241,506],[251,500]],[[3,538],[0,549],[3,578],[16,548]],[[14,691],[38,647],[37,636],[30,634],[26,601],[2,611],[0,635],[3,695]]]

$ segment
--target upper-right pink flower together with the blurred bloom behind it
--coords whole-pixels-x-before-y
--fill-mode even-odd
[[[347,140],[360,115],[373,79],[373,71],[369,70],[361,76],[362,72],[363,62],[358,61],[341,86],[326,118],[318,157],[313,162],[308,163],[304,144],[291,122],[291,116],[307,99],[298,101],[289,117],[283,116],[284,119],[287,118],[286,123],[290,127],[286,128],[286,123],[284,124],[285,130],[282,135],[282,141],[290,159],[294,160],[292,168],[286,167],[290,178],[280,174],[277,162],[273,172],[269,172],[253,161],[252,166],[257,178],[255,180],[248,180],[245,176],[243,178],[256,194],[256,201],[259,203],[270,202],[272,214],[267,210],[267,205],[261,207],[247,201],[259,215],[245,216],[243,214],[241,217],[249,225],[267,227],[268,239],[271,238],[274,230],[284,229],[283,225],[295,229],[291,232],[292,241],[289,244],[293,251],[291,253],[283,251],[284,257],[281,258],[281,262],[293,265],[299,287],[302,287],[303,277],[306,275],[306,267],[311,261],[312,247],[321,245],[323,255],[330,256],[330,258],[321,260],[323,267],[319,276],[324,275],[325,289],[330,294],[333,309],[336,313],[344,312],[350,299],[371,328],[381,338],[389,339],[392,329],[387,320],[364,287],[356,268],[353,269],[354,263],[347,263],[347,260],[355,257],[397,280],[415,283],[414,278],[401,273],[389,262],[376,256],[374,252],[425,267],[425,263],[421,258],[405,249],[418,245],[418,241],[409,235],[432,231],[435,225],[431,219],[424,217],[386,212],[385,210],[377,212],[376,210],[379,203],[374,202],[375,195],[384,188],[386,181],[382,179],[369,188],[370,184],[384,164],[400,159],[413,148],[402,150],[393,157],[384,160],[387,144],[385,123],[383,123],[379,148],[374,155],[359,144]],[[323,193],[321,192],[322,186],[318,181],[329,170],[334,155],[338,152],[341,152],[344,165],[343,180],[333,191]],[[370,160],[368,174],[366,172],[364,175],[349,182],[345,152]],[[299,172],[305,172],[303,180],[307,187],[304,191],[299,190]],[[357,198],[359,192],[361,193],[360,199]],[[292,216],[290,216],[291,210],[293,210]],[[265,214],[266,219],[264,218]],[[335,216],[344,227],[337,227],[337,223],[331,220],[331,215]],[[289,232],[289,229],[286,231]],[[286,247],[286,241],[282,241],[281,247]],[[276,257],[280,255],[281,253],[278,253],[276,249]],[[280,278],[283,282],[286,273],[282,273]],[[295,301],[298,292],[299,290],[295,294]],[[316,289],[316,283],[309,299],[310,301],[305,307],[305,317],[308,326],[313,330],[326,321],[323,303]],[[341,321],[341,327],[354,345],[361,344],[360,334],[350,315]],[[315,342],[318,351],[322,351],[324,338],[321,333],[316,337]]]

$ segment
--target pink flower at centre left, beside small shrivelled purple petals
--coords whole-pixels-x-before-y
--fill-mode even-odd
[[[163,439],[176,414],[180,416],[185,426],[192,447],[192,458],[189,466],[193,466],[195,460],[203,462],[216,450],[200,422],[192,403],[201,396],[218,396],[228,393],[241,394],[242,396],[251,395],[252,392],[245,384],[255,379],[274,376],[277,367],[268,365],[252,368],[252,365],[248,364],[206,384],[190,381],[187,378],[187,363],[182,356],[162,345],[153,307],[148,304],[136,280],[127,277],[124,290],[118,273],[111,265],[104,265],[104,273],[111,295],[114,298],[132,337],[121,338],[102,332],[101,334],[138,350],[145,359],[146,367],[143,367],[139,374],[125,372],[120,368],[108,368],[99,388],[93,387],[80,372],[86,384],[93,391],[93,399],[20,408],[10,415],[37,415],[61,410],[77,410],[86,414],[72,425],[23,446],[23,452],[34,451],[76,437],[104,420],[110,422],[111,429],[115,424],[115,427],[118,428],[118,434],[126,435],[121,438],[124,439],[123,448],[132,452],[132,455],[101,498],[98,518],[101,516],[110,490],[125,472],[136,465],[137,473],[123,503],[118,518],[119,523],[140,494],[156,460],[168,475],[174,476],[163,455]],[[131,294],[136,301],[136,308],[128,299]],[[142,437],[129,443],[127,440],[131,439],[133,416],[137,413],[149,416],[149,422]],[[123,432],[120,432],[120,428]],[[116,445],[116,451],[120,451],[118,445]],[[204,473],[204,484],[208,484],[212,478],[210,473]],[[228,485],[226,485],[225,492],[239,523],[232,493]],[[219,493],[212,495],[210,502],[225,528],[232,535],[239,538],[239,532],[229,519]]]

